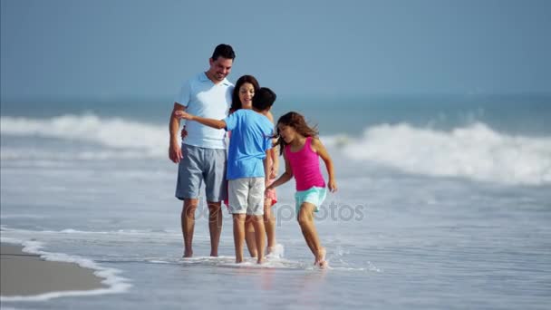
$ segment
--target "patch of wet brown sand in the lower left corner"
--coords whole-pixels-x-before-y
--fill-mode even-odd
[[[0,296],[5,300],[109,288],[102,283],[102,277],[94,274],[94,269],[43,260],[37,254],[24,252],[23,246],[12,243],[0,243],[0,269]]]

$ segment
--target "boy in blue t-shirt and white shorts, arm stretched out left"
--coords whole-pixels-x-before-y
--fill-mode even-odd
[[[177,111],[180,119],[198,121],[216,129],[232,131],[227,150],[227,180],[229,210],[234,220],[236,263],[243,262],[246,214],[253,218],[257,263],[264,261],[264,191],[269,178],[266,152],[272,148],[274,125],[265,114],[275,102],[275,92],[262,87],[253,98],[253,110],[241,109],[224,120],[214,120]]]

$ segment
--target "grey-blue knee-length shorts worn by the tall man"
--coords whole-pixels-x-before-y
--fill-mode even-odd
[[[203,180],[207,201],[227,199],[226,150],[182,144],[182,156],[178,165],[177,199],[198,199]]]

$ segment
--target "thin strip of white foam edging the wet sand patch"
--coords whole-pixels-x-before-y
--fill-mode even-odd
[[[64,253],[45,252],[42,250],[43,243],[34,240],[22,240],[13,237],[0,237],[0,240],[3,243],[5,242],[21,244],[23,246],[24,252],[39,255],[41,258],[47,261],[73,263],[84,268],[95,270],[94,275],[102,277],[102,283],[109,286],[109,288],[100,288],[86,291],[49,292],[39,295],[2,295],[0,296],[0,300],[2,300],[3,302],[43,301],[63,296],[117,294],[124,293],[128,291],[131,287],[131,284],[128,283],[128,280],[126,278],[119,276],[121,270],[99,266],[92,260],[83,257],[71,256]]]

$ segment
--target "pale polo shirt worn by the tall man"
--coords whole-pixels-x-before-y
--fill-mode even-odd
[[[215,84],[205,73],[199,73],[182,85],[175,102],[186,107],[189,114],[209,119],[223,120],[231,106],[234,84],[224,79]],[[186,121],[188,136],[184,144],[207,149],[226,149],[226,131],[202,125],[197,121]]]

